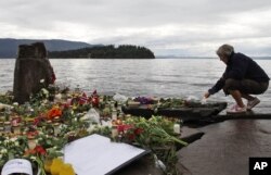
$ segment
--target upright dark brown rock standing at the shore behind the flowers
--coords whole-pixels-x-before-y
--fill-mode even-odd
[[[21,45],[14,70],[14,101],[20,104],[29,101],[31,93],[48,87],[54,80],[54,72],[47,58],[44,43]]]

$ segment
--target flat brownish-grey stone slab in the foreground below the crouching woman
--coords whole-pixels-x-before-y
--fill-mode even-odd
[[[183,175],[248,175],[250,157],[271,157],[271,120],[230,120],[178,152]]]

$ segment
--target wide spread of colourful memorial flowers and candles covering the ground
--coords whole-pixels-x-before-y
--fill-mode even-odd
[[[13,109],[4,109],[3,120],[14,123],[12,121],[16,118],[22,130],[16,134],[13,129],[0,132],[0,167],[8,160],[25,158],[44,175],[46,170],[50,172],[48,162],[63,157],[65,145],[96,133],[111,137],[113,141],[151,150],[154,158],[164,162],[165,171],[170,172],[177,160],[176,145],[186,145],[173,130],[173,125],[180,121],[163,116],[146,120],[125,115],[112,97],[99,96],[96,90],[88,96],[78,89],[68,92],[67,89],[50,88],[41,89],[25,104],[8,103]],[[5,97],[1,99],[12,101]],[[151,99],[145,98],[138,100],[143,104],[154,102],[149,103]]]

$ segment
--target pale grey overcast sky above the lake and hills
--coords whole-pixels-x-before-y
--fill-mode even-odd
[[[0,38],[139,45],[216,57],[222,43],[271,55],[270,0],[1,0]]]

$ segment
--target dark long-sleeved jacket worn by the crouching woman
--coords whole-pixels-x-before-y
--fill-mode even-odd
[[[267,73],[250,58],[242,53],[232,53],[222,77],[208,91],[214,95],[221,90],[224,82],[228,78],[232,79],[253,79],[259,83],[269,82]]]

